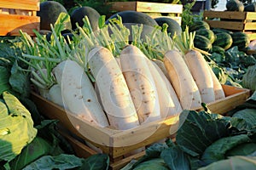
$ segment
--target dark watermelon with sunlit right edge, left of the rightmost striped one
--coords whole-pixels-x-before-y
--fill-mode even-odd
[[[222,32],[222,33],[215,34],[215,36],[216,36],[216,39],[215,39],[215,42],[212,43],[212,45],[216,45],[221,48],[224,48],[224,50],[231,47],[233,40],[230,34]]]

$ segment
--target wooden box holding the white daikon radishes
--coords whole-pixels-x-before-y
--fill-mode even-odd
[[[226,85],[223,85],[223,88],[226,95],[225,99],[219,99],[207,104],[210,111],[224,115],[227,111],[244,103],[250,96],[250,90],[245,88],[235,88]],[[107,153],[113,169],[119,169],[119,167],[124,166],[131,159],[138,158],[144,154],[144,152],[140,152],[127,156],[131,151],[154,144],[161,139],[175,137],[179,122],[178,116],[170,116],[131,130],[118,131],[108,127],[97,127],[90,122],[85,122],[78,116],[74,116],[72,113],[65,111],[62,107],[53,104],[38,94],[32,93],[32,100],[38,106],[38,111],[44,116],[59,120],[61,127],[64,127],[79,139],[84,139],[100,148],[103,153]],[[67,135],[67,133],[63,133],[63,135],[73,144],[78,156],[86,157],[96,154],[95,150],[91,150],[88,146],[79,142],[79,140]]]

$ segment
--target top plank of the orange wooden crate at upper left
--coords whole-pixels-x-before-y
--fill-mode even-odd
[[[25,10],[39,10],[39,0],[1,0],[0,8],[19,8]]]

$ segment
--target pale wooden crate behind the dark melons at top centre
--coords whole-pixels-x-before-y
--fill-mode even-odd
[[[181,16],[183,13],[182,4],[171,4],[171,3],[148,3],[148,2],[113,2],[111,3],[111,9],[114,11],[125,11],[125,10],[134,10],[137,12],[143,13],[161,13],[161,14],[173,14],[170,17],[173,20],[176,20],[179,25],[181,25]],[[154,15],[152,15],[155,18]]]

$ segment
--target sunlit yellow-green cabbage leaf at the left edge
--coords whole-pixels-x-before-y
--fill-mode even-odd
[[[3,93],[9,115],[0,119],[0,161],[11,161],[37,134],[29,111],[14,95]]]

